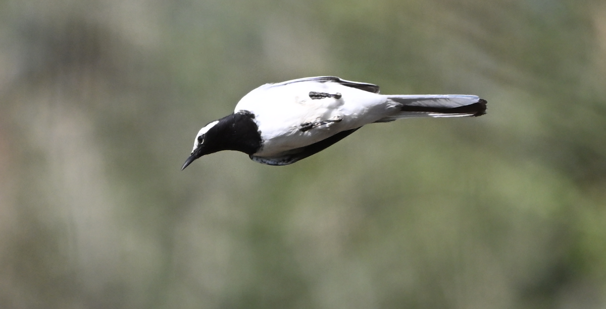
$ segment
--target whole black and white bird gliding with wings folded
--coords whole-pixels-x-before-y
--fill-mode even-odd
[[[486,112],[478,96],[379,94],[379,86],[333,76],[268,83],[242,97],[231,115],[204,126],[181,169],[222,150],[270,165],[295,163],[368,123],[410,117],[466,117]]]

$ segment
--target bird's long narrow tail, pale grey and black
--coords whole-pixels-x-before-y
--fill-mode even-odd
[[[377,122],[410,117],[478,117],[486,114],[486,100],[464,94],[428,94],[423,96],[387,96],[399,103],[400,111]]]

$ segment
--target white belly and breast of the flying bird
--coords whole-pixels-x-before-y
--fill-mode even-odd
[[[310,93],[340,96],[313,99]],[[338,132],[375,122],[390,113],[385,103],[384,96],[362,89],[335,82],[306,80],[260,86],[242,97],[235,112],[255,114],[264,139],[264,147],[257,155],[263,156],[311,145]],[[340,120],[313,129],[301,129],[304,123],[321,123],[330,119]]]

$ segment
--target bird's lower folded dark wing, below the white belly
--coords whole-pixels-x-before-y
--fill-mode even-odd
[[[347,131],[339,132],[331,137],[328,137],[324,140],[318,141],[317,143],[304,146],[301,148],[292,149],[289,151],[282,152],[277,155],[272,155],[271,157],[257,157],[255,155],[250,155],[250,158],[259,163],[268,164],[268,165],[288,165],[295,163],[301,159],[307,158],[310,155],[317,154],[318,152],[328,148],[328,146],[333,145],[337,141],[342,140],[347,137],[351,133],[355,132],[357,129],[351,129]]]

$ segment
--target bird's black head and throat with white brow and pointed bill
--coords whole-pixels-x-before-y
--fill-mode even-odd
[[[235,150],[248,155],[257,152],[261,148],[261,132],[254,119],[251,112],[239,111],[208,123],[196,135],[191,155],[181,170],[202,155],[217,151]]]

